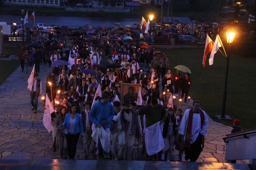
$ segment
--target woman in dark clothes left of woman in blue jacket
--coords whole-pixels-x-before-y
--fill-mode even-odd
[[[55,127],[57,128],[57,138],[60,146],[61,159],[67,159],[67,143],[65,137],[65,129],[63,123],[67,113],[66,107],[62,106],[60,109],[61,113],[57,116]]]

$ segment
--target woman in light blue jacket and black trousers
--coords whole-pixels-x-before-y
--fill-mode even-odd
[[[69,159],[75,159],[76,145],[79,140],[80,134],[81,138],[84,137],[82,117],[77,113],[79,107],[75,103],[70,106],[70,113],[67,113],[63,123],[65,128],[65,137],[67,142],[67,154]]]

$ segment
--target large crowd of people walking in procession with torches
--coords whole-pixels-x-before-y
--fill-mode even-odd
[[[32,98],[35,101],[32,103],[34,113],[38,94],[42,94],[41,82],[37,79],[40,67],[46,64],[52,67],[51,64],[57,60],[69,63],[52,67],[46,81],[45,93],[55,109],[51,113],[53,151],[59,148],[61,159],[75,159],[76,145],[81,137],[84,159],[92,159],[89,154],[92,151],[98,160],[136,160],[142,144],[141,153],[148,154],[149,160],[173,160],[171,153],[176,146],[180,150],[179,161],[182,161],[184,147],[179,141],[188,140],[186,131],[189,131],[196,140],[198,153],[198,144],[201,147],[203,141],[198,141],[197,137],[207,135],[208,125],[205,112],[199,110],[200,102],[195,101],[194,109],[185,112],[186,119],[182,118],[183,111],[178,106],[174,103],[172,107],[168,105],[172,95],[183,99],[185,94],[183,100],[187,102],[192,85],[190,74],[185,73],[183,77],[177,70],[173,75],[167,55],[158,55],[156,47],[143,48],[145,44],[107,39],[106,36],[117,35],[113,30],[99,32],[101,36],[92,38],[97,43],[85,41],[83,45],[78,45],[73,39],[66,44],[51,40],[47,46],[55,43],[61,50],[21,47],[19,52],[22,72],[26,69],[28,73],[28,67],[35,65],[32,86],[32,95],[36,94]],[[129,30],[120,34],[123,37],[131,35]],[[80,53],[81,50],[86,54]],[[48,56],[44,58],[45,53]],[[128,97],[122,94],[123,84],[130,85]],[[141,85],[141,104],[133,95],[132,85],[135,84]],[[99,91],[101,95],[98,95]],[[200,115],[192,116],[193,121],[188,123],[192,119],[191,112],[200,112]],[[194,121],[198,119],[201,121]],[[192,131],[185,128],[187,124]],[[152,142],[151,139],[158,140]],[[90,147],[91,143],[93,147]],[[193,153],[189,154],[188,150],[185,153],[188,155],[186,159],[192,162],[199,156],[192,157]]]

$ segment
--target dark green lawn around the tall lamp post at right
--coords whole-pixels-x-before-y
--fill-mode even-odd
[[[204,49],[160,50],[168,54],[169,65],[174,74],[176,65],[185,65],[190,68],[192,85],[189,96],[193,100],[199,100],[202,108],[212,119],[232,126],[232,120],[218,120],[215,117],[222,112],[226,69],[226,59],[222,54],[220,52],[215,54],[214,64],[211,66],[209,66],[210,55],[208,55],[204,68],[202,65]],[[225,115],[229,115],[232,119],[239,119],[243,130],[256,127],[256,90],[254,90],[256,80],[255,71],[253,71],[255,65],[256,58],[240,57],[230,52]]]

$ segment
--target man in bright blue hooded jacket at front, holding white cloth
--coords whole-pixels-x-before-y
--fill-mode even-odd
[[[114,107],[110,102],[111,93],[108,91],[103,91],[101,94],[101,98],[93,105],[91,112],[89,113],[89,118],[97,128],[103,128],[105,132],[110,136],[110,122],[112,121],[115,113]],[[96,146],[99,150],[99,158],[108,159],[109,154],[104,153],[102,146],[100,146],[100,142],[98,142],[99,146]]]

